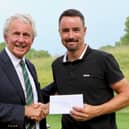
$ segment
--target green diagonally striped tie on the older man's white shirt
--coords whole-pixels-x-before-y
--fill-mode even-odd
[[[26,88],[26,105],[30,105],[33,103],[33,92],[32,92],[32,86],[30,83],[30,79],[25,67],[25,63],[23,60],[20,61],[20,66],[23,73],[25,88]],[[36,125],[33,121],[26,122],[26,129],[36,129]]]

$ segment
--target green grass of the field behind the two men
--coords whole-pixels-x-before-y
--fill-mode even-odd
[[[112,48],[105,51],[108,51],[115,56],[126,79],[129,80],[129,46]],[[53,58],[40,58],[32,60],[36,66],[41,87],[48,85],[53,80],[51,71],[52,61]],[[118,129],[129,129],[129,107],[118,111],[116,116]],[[61,115],[49,115],[47,117],[47,122],[51,125],[50,129],[60,129]]]

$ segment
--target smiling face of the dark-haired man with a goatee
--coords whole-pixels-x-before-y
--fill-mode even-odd
[[[86,27],[78,16],[62,17],[59,23],[59,32],[63,45],[68,51],[79,51],[84,45]]]

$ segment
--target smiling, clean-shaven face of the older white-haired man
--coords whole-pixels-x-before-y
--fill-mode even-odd
[[[22,58],[33,43],[32,26],[22,20],[13,20],[4,35],[7,47],[17,58]]]

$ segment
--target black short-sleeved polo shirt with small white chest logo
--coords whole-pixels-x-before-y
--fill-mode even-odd
[[[52,69],[59,94],[82,93],[84,103],[92,105],[103,104],[110,100],[113,97],[111,84],[124,78],[117,61],[111,54],[90,47],[87,48],[82,59],[74,62],[63,62],[63,56],[59,57],[53,62]],[[71,124],[74,120],[70,116],[65,117],[64,115],[62,119],[63,126],[67,124],[69,128],[70,123],[67,119],[72,121]],[[94,123],[97,121],[93,129],[116,129],[114,113],[82,122],[84,126],[83,124],[81,126],[83,129],[87,124],[87,127],[93,126],[93,121]],[[79,122],[78,129],[82,129],[81,126]],[[85,127],[85,129],[92,128]]]

